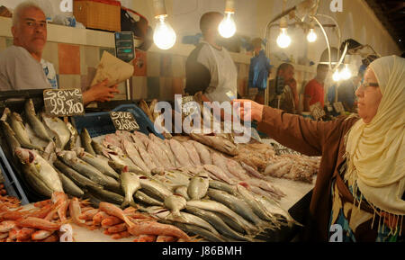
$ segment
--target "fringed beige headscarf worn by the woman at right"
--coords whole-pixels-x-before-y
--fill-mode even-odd
[[[352,180],[375,211],[403,218],[405,58],[378,58],[369,67],[374,71],[383,99],[372,121],[359,120],[348,133],[345,178]]]

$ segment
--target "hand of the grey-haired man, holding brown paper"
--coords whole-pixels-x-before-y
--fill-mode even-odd
[[[117,85],[108,86],[108,79],[104,79],[83,93],[83,103],[86,105],[94,101],[109,102],[114,97],[114,93],[120,93]]]

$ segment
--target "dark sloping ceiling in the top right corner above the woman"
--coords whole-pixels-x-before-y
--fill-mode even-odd
[[[405,51],[405,1],[404,0],[365,0],[375,15]]]

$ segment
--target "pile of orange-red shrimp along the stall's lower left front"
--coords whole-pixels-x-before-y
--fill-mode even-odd
[[[175,226],[158,223],[147,213],[133,207],[121,210],[108,202],[94,209],[87,200],[69,199],[65,193],[53,193],[46,201],[23,211],[16,204],[0,201],[0,242],[58,242],[60,227],[70,222],[86,229],[102,229],[113,239],[134,238],[134,242],[197,242]],[[19,204],[18,204],[19,205]],[[12,209],[13,208],[13,209]],[[15,209],[16,208],[16,209]]]

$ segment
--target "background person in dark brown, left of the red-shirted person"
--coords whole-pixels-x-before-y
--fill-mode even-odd
[[[297,82],[294,79],[294,67],[289,63],[283,63],[277,68],[277,76],[283,76],[284,78],[284,91],[281,94],[279,109],[285,112],[294,113],[298,109],[298,91]],[[274,108],[278,108],[278,98],[275,93],[276,79],[272,79],[269,82],[269,105]]]

